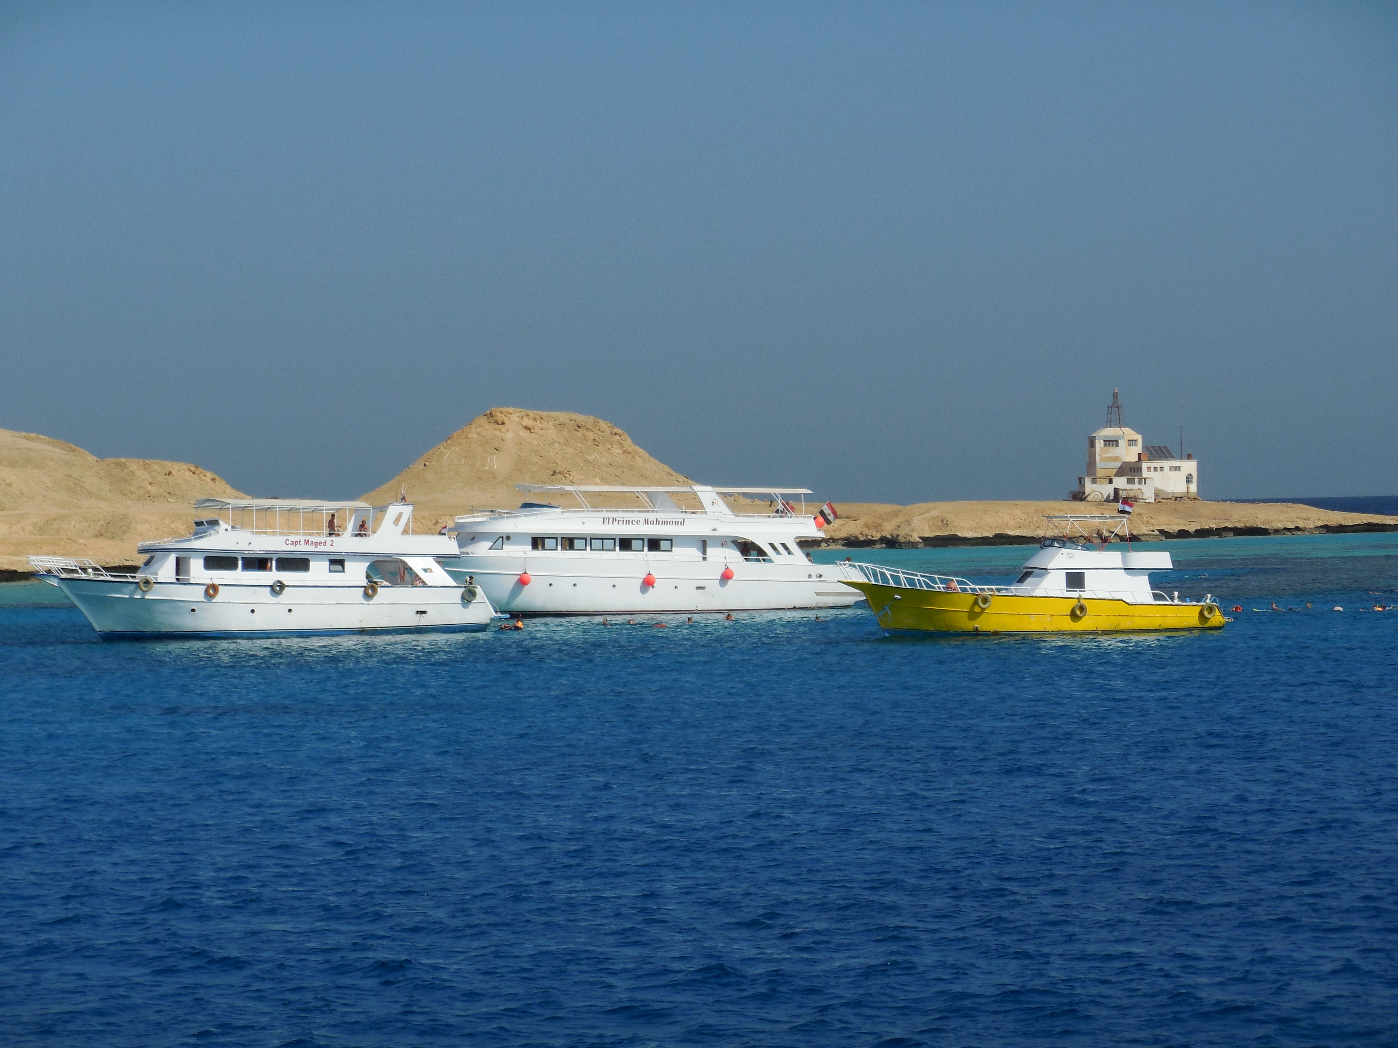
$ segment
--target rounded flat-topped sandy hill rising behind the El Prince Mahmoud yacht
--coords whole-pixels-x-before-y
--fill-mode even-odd
[[[405,490],[419,531],[468,509],[514,509],[516,483],[691,483],[632,443],[625,432],[569,411],[491,408],[387,483],[361,496],[394,502]],[[538,500],[569,503],[548,496]]]

